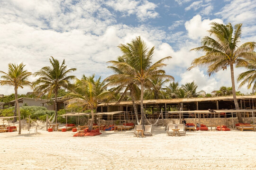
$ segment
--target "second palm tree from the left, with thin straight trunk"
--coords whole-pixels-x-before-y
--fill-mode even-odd
[[[35,73],[35,76],[39,78],[33,83],[35,86],[35,92],[38,94],[38,97],[48,94],[48,98],[52,93],[55,94],[55,117],[57,123],[57,94],[60,89],[71,89],[73,85],[71,80],[75,76],[68,76],[69,73],[76,70],[76,68],[67,69],[65,65],[65,59],[60,65],[59,60],[51,57],[50,59],[51,66],[46,66],[41,68]]]

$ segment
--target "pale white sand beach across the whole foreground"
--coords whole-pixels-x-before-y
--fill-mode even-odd
[[[256,170],[256,132],[198,131],[166,136],[127,132],[73,137],[34,128],[0,133],[1,170]]]

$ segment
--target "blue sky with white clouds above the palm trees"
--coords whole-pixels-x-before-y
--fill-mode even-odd
[[[203,55],[190,50],[201,45],[211,22],[242,23],[240,43],[256,41],[255,11],[255,0],[0,0],[0,70],[23,62],[36,72],[53,56],[77,68],[78,78],[106,78],[112,74],[106,62],[122,55],[118,45],[141,36],[148,48],[155,46],[153,62],[172,56],[164,69],[175,82],[195,81],[198,91],[210,93],[231,86],[230,68],[210,77],[206,68],[187,71]],[[235,78],[245,70],[235,68]],[[236,90],[251,92],[238,85]],[[13,87],[0,87],[0,94],[11,93]]]

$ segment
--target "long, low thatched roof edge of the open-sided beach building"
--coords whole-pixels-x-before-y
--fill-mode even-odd
[[[255,99],[256,95],[237,96],[237,99]],[[181,102],[213,102],[213,101],[233,101],[233,96],[218,96],[218,97],[204,97],[204,98],[185,98],[185,99],[158,99],[158,100],[144,100],[143,104],[160,104],[160,103],[181,103]],[[135,101],[140,104],[140,101]],[[102,102],[98,106],[119,106],[132,105],[132,101],[121,102]]]

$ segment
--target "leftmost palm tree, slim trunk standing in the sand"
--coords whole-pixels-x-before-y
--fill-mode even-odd
[[[15,103],[17,107],[18,112],[18,134],[21,134],[21,121],[20,121],[20,111],[19,111],[19,105],[18,105],[18,87],[23,88],[23,86],[31,86],[32,83],[29,82],[27,79],[29,76],[32,75],[31,72],[28,72],[27,70],[24,70],[23,63],[18,64],[8,64],[8,73],[5,73],[3,71],[0,71],[0,73],[4,74],[1,76],[3,80],[0,80],[0,85],[10,85],[14,86],[14,92],[15,92]],[[16,115],[14,115],[16,116]]]

